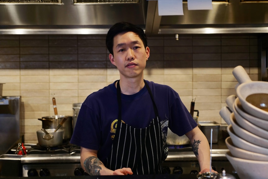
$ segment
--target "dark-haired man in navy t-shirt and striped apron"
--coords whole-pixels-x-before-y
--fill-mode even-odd
[[[81,106],[70,142],[81,146],[83,169],[90,175],[161,174],[169,127],[187,135],[200,173],[209,172],[208,141],[178,93],[143,79],[150,56],[144,31],[117,23],[107,33],[106,46],[120,80],[90,94]]]

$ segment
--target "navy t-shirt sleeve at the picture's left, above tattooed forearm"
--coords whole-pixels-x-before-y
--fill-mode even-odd
[[[99,116],[96,115],[94,110],[83,103],[77,116],[70,143],[84,148],[99,150],[101,140],[99,123]]]

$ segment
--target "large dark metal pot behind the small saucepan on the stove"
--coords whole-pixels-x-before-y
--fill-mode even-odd
[[[56,129],[62,119],[67,118],[64,124],[59,128],[63,130],[63,139],[70,140],[72,137],[72,116],[58,115],[58,119],[55,116],[45,116],[42,119],[42,128],[44,129]]]

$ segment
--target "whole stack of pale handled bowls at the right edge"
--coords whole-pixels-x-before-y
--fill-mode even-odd
[[[268,111],[262,109],[268,108],[268,82],[251,81],[242,66],[233,75],[239,84],[229,115],[226,157],[240,178],[268,179]]]

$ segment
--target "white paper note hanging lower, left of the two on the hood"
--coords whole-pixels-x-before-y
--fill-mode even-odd
[[[159,16],[183,15],[183,0],[158,0]]]

